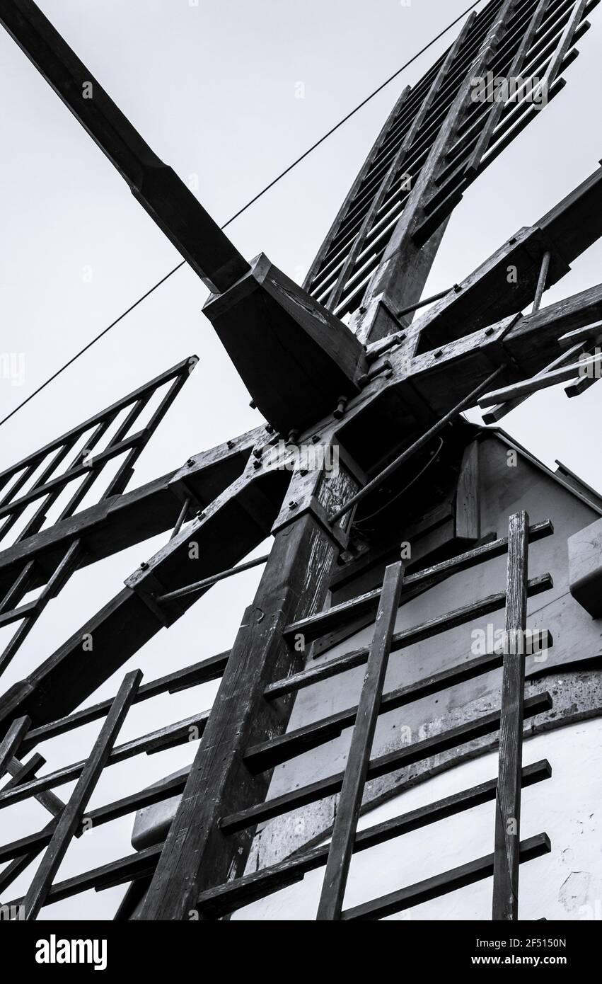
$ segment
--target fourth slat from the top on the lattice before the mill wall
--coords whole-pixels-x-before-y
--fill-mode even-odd
[[[543,713],[552,707],[552,699],[549,694],[536,694],[529,697],[524,702],[524,716]],[[473,741],[492,734],[500,726],[500,713],[492,711],[473,721],[461,724],[443,734],[434,735],[422,742],[409,745],[406,748],[398,749],[388,755],[373,759],[368,768],[368,779],[375,779],[381,775],[388,775],[396,769],[403,769],[405,766],[422,762],[424,759],[441,752],[449,751],[464,742]],[[245,830],[255,827],[264,821],[273,820],[298,807],[308,806],[310,803],[317,803],[325,796],[331,796],[340,791],[343,772],[336,772],[327,778],[320,779],[310,785],[293,789],[291,792],[284,793],[282,796],[275,797],[257,806],[249,807],[239,813],[229,814],[220,821],[220,829],[224,833],[234,833],[237,830]]]

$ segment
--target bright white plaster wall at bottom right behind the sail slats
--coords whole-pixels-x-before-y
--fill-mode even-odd
[[[602,719],[537,735],[523,763],[548,759],[553,775],[523,791],[521,837],[545,831],[552,853],[520,869],[519,918],[602,920]],[[360,830],[469,788],[497,774],[487,755],[429,779],[371,811]],[[345,908],[412,885],[493,851],[494,804],[415,830],[354,856]],[[324,868],[296,886],[239,910],[243,920],[316,918]],[[391,919],[491,919],[492,879],[486,879]]]

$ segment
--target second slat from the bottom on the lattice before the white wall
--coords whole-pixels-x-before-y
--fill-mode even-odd
[[[526,766],[522,770],[523,788],[548,779],[551,775],[552,769],[545,760]],[[411,830],[422,830],[431,824],[456,816],[464,810],[490,803],[495,800],[497,785],[497,778],[489,779],[445,799],[393,817],[366,830],[360,830],[355,836],[353,851],[358,853],[369,850]],[[329,844],[321,844],[319,847],[295,853],[269,868],[260,869],[243,878],[203,892],[197,901],[197,907],[215,918],[226,912],[232,912],[242,905],[248,905],[258,898],[265,898],[271,892],[278,892],[288,885],[299,882],[308,872],[321,868],[328,858],[329,846]]]

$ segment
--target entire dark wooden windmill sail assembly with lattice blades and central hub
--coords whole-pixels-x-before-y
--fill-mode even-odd
[[[0,475],[7,487],[0,504],[0,516],[7,517],[3,535],[31,502],[42,503],[25,532],[0,552],[0,624],[19,623],[2,667],[18,658],[31,620],[78,568],[156,533],[169,536],[107,605],[0,701],[0,769],[12,775],[0,790],[0,809],[35,796],[52,815],[43,830],[0,847],[0,859],[10,862],[0,873],[3,897],[44,852],[22,900],[27,918],[35,918],[46,902],[125,882],[137,887],[141,919],[187,919],[191,910],[215,918],[325,863],[320,919],[380,918],[491,874],[494,918],[516,918],[518,865],[549,850],[545,833],[524,840],[519,834],[521,786],[549,775],[545,762],[522,769],[523,718],[550,707],[549,695],[523,700],[522,662],[502,650],[431,675],[403,692],[384,695],[383,689],[391,653],[421,638],[504,607],[508,633],[523,633],[527,596],[551,586],[545,572],[528,571],[528,547],[549,536],[552,524],[529,524],[520,510],[512,515],[508,535],[483,536],[474,508],[474,460],[469,449],[465,456],[462,451],[453,505],[438,501],[437,489],[428,510],[414,504],[423,528],[424,523],[428,529],[452,523],[447,556],[416,568],[419,557],[413,555],[409,573],[395,559],[382,584],[325,606],[332,585],[349,581],[366,556],[386,556],[391,549],[398,555],[398,543],[388,540],[391,503],[438,457],[441,435],[458,433],[463,409],[479,401],[495,404],[494,419],[499,419],[504,407],[540,386],[578,376],[578,366],[569,360],[577,351],[590,351],[602,333],[602,285],[540,307],[544,288],[565,276],[572,261],[602,234],[600,168],[436,298],[425,314],[410,317],[426,304],[421,303],[423,288],[463,191],[537,116],[527,88],[514,101],[479,101],[473,97],[473,80],[488,73],[536,77],[548,98],[554,97],[564,86],[562,73],[576,56],[574,44],[587,30],[585,18],[596,2],[491,0],[471,15],[450,49],[415,87],[401,93],[299,286],[263,254],[251,262],[241,256],[30,0],[1,0],[5,29],[210,286],[205,314],[267,421],[224,446],[192,455],[169,475],[126,491],[133,456],[185,382],[187,362]],[[83,86],[89,83],[94,96],[84,99]],[[517,277],[509,282],[511,266]],[[531,304],[531,313],[521,315]],[[564,340],[572,346],[569,351],[559,349]],[[152,423],[132,435],[140,404],[163,383],[171,388]],[[127,426],[124,422],[97,458],[83,460],[80,454],[58,473],[80,437],[95,428],[93,445],[127,407]],[[274,458],[279,442],[289,449],[321,450],[321,461],[335,449],[338,467],[327,469],[315,463],[316,455],[307,456],[291,474]],[[457,447],[461,443],[458,438]],[[88,438],[88,455],[92,445]],[[129,457],[116,484],[95,505],[77,512],[103,462],[124,452]],[[44,525],[46,504],[73,480],[82,485],[69,508],[57,523]],[[230,650],[143,685],[140,674],[128,674],[113,701],[77,709],[270,534],[261,584]],[[198,547],[192,555],[191,542]],[[452,612],[433,611],[427,622],[394,631],[397,609],[406,598],[506,554],[506,590]],[[22,605],[30,587],[40,585],[38,598]],[[369,646],[326,662],[308,661],[310,646],[316,652],[323,641],[324,651],[324,640],[329,645],[344,640],[375,616]],[[89,639],[93,649],[83,661]],[[288,728],[300,691],[364,665],[365,685],[355,706],[301,729]],[[371,756],[379,714],[502,665],[501,707],[390,755]],[[220,688],[209,711],[115,744],[132,704],[216,678],[221,678]],[[42,739],[102,718],[86,761],[41,777],[34,775],[35,757],[23,763]],[[133,792],[86,815],[102,769],[186,741],[191,724],[202,737],[188,776]],[[322,747],[351,725],[346,769],[267,798],[274,768]],[[367,780],[498,731],[498,781],[468,789],[453,802],[432,804],[411,820],[400,817],[386,828],[357,834]],[[74,779],[76,789],[63,804],[50,790]],[[95,824],[106,823],[182,792],[164,842],[55,883],[85,815]],[[330,847],[311,848],[245,874],[258,824],[338,793]],[[493,853],[429,884],[400,887],[392,895],[343,908],[354,851],[488,800],[497,803]],[[512,833],[508,817],[518,825]]]

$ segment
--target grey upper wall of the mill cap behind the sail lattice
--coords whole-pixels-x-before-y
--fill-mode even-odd
[[[574,601],[568,584],[568,536],[591,523],[595,513],[531,462],[519,457],[517,466],[509,467],[507,451],[506,445],[494,437],[486,440],[481,450],[482,531],[496,530],[498,535],[505,535],[508,517],[518,509],[528,511],[531,523],[550,518],[555,529],[554,535],[531,544],[529,548],[529,576],[549,572],[554,579],[554,587],[529,599],[527,625],[531,629],[551,630],[554,646],[547,652],[545,662],[540,661],[541,656],[537,662],[533,657],[527,657],[525,668],[528,676],[544,666],[568,665],[576,659],[601,652],[602,620],[592,619]],[[504,590],[506,565],[506,556],[497,557],[456,574],[414,598],[399,609],[395,631],[418,625],[435,615],[443,615],[470,600]],[[472,631],[485,630],[488,624],[495,630],[502,630],[504,618],[505,612],[501,608],[491,615],[392,653],[385,692],[423,680],[430,674],[470,659]],[[333,646],[315,662],[310,659],[309,665],[328,662],[340,653],[366,646],[372,633],[373,626],[367,626],[350,639]],[[352,707],[357,702],[363,675],[364,667],[359,667],[300,691],[288,730]],[[373,757],[446,731],[467,718],[479,717],[499,707],[501,679],[501,670],[496,670],[469,683],[450,687],[433,697],[382,714],[376,729]],[[540,689],[545,687],[542,685]],[[536,720],[539,721],[540,716]],[[344,769],[350,735],[351,729],[347,728],[339,738],[274,769],[270,797]],[[402,773],[395,773],[388,782],[394,781],[395,776],[405,777]],[[368,795],[379,794],[382,785],[382,780],[377,780],[376,784],[370,783]],[[331,797],[272,821],[258,840],[260,866],[272,864],[301,847],[308,838],[328,830],[333,808],[334,799]],[[255,863],[252,858],[251,866]]]

